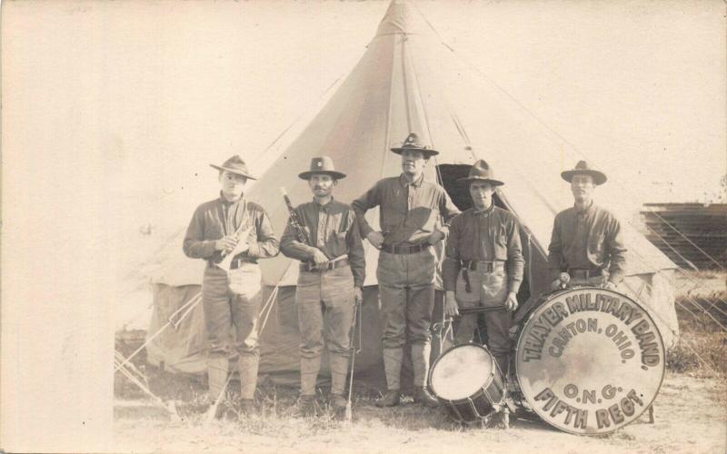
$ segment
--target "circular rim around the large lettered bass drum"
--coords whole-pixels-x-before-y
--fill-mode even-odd
[[[541,412],[539,410],[535,410],[537,407],[534,405],[534,403],[531,400],[531,398],[527,394],[525,394],[525,392],[523,390],[523,383],[520,380],[521,372],[520,372],[520,362],[518,361],[518,350],[520,350],[520,343],[521,343],[521,340],[523,339],[523,331],[525,330],[525,326],[527,326],[527,324],[530,323],[531,320],[533,320],[533,316],[535,315],[535,312],[537,312],[540,308],[542,308],[543,305],[546,304],[548,301],[553,300],[553,298],[555,298],[555,297],[563,294],[566,291],[574,291],[574,290],[610,291],[611,293],[620,295],[623,298],[626,298],[629,301],[631,301],[632,303],[634,303],[636,306],[638,306],[639,308],[641,308],[642,311],[644,311],[646,313],[646,315],[649,316],[649,319],[652,321],[654,330],[656,330],[656,332],[659,334],[657,336],[657,339],[659,340],[659,344],[662,346],[662,351],[663,351],[663,354],[664,354],[663,360],[662,360],[662,366],[660,368],[660,370],[662,371],[662,375],[661,375],[661,378],[659,379],[659,385],[656,387],[656,392],[653,393],[653,397],[652,397],[651,400],[649,400],[649,403],[645,404],[642,407],[642,410],[638,413],[638,415],[634,416],[633,419],[631,421],[629,421],[628,423],[623,424],[622,426],[619,426],[619,427],[614,427],[613,429],[609,429],[609,430],[604,431],[604,432],[585,433],[585,432],[579,432],[579,431],[576,431],[576,430],[572,430],[570,428],[569,429],[563,429],[562,427],[559,427],[559,426],[554,425],[548,419],[544,419],[543,418],[543,415],[541,415]],[[663,342],[663,339],[662,339],[662,331],[659,330],[659,326],[653,320],[653,318],[652,318],[652,312],[649,311],[649,308],[645,308],[642,305],[642,303],[640,303],[639,301],[633,300],[630,296],[625,295],[625,294],[623,294],[620,291],[612,291],[612,290],[609,290],[609,289],[604,289],[603,287],[594,287],[593,285],[579,285],[579,286],[570,287],[568,289],[563,289],[561,291],[552,291],[550,293],[544,294],[543,297],[546,297],[545,300],[543,302],[541,302],[537,307],[533,308],[533,311],[530,312],[530,315],[528,316],[527,321],[525,321],[523,323],[523,328],[521,329],[520,333],[518,334],[517,342],[515,342],[515,349],[514,349],[514,352],[515,352],[515,360],[514,360],[514,362],[515,362],[515,380],[517,380],[517,385],[520,388],[520,393],[523,395],[523,398],[525,398],[525,401],[528,402],[528,405],[533,410],[533,412],[536,415],[538,415],[538,418],[543,419],[543,422],[545,422],[546,424],[554,427],[555,429],[563,430],[564,432],[572,433],[574,435],[586,435],[586,436],[589,436],[589,437],[610,434],[610,433],[612,433],[612,432],[614,432],[614,431],[616,431],[618,429],[622,429],[622,428],[628,426],[629,424],[632,424],[636,419],[641,418],[643,412],[646,411],[646,410],[648,410],[649,407],[652,406],[653,401],[656,400],[656,397],[659,395],[659,391],[662,390],[662,384],[663,384],[663,380],[664,380],[664,375],[666,373],[666,348],[664,347],[664,342]]]

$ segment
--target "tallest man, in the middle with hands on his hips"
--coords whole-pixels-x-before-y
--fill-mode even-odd
[[[424,181],[424,167],[439,152],[420,143],[416,133],[391,150],[401,155],[403,173],[380,180],[352,203],[362,236],[380,250],[376,278],[385,323],[382,343],[388,392],[376,405],[399,404],[403,345],[408,339],[414,401],[435,407],[437,401],[426,389],[437,267],[432,246],[445,239],[448,222],[459,210],[442,186]],[[381,231],[365,218],[375,206]]]

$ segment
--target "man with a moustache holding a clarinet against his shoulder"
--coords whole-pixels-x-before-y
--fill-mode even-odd
[[[354,211],[334,199],[334,188],[346,176],[335,170],[334,161],[328,156],[313,158],[310,170],[298,176],[313,192],[312,202],[294,210],[305,235],[295,231],[294,222],[288,222],[280,249],[285,256],[301,261],[295,290],[301,332],[300,407],[304,414],[315,412],[315,382],[327,344],[331,405],[340,412],[346,406],[344,385],[355,304],[362,301],[364,245]]]

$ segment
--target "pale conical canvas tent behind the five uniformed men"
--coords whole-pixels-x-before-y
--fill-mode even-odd
[[[389,149],[410,132],[441,152],[430,162],[425,178],[442,183],[462,207],[467,194],[453,182],[476,159],[491,163],[505,182],[498,202],[522,223],[527,261],[519,294],[525,303],[516,316],[521,320],[549,285],[545,257],[553,217],[573,203],[560,173],[583,158],[457,58],[415,5],[392,2],[360,62],[246,197],[264,206],[280,234],[288,213],[278,188],[284,184],[296,203],[309,200],[309,189],[297,174],[312,157],[332,156],[336,166],[348,173],[335,196],[350,202],[377,180],[401,172],[400,158]],[[206,165],[202,158],[200,165]],[[620,207],[613,202],[625,200],[617,184],[607,183],[596,196],[617,214]],[[378,225],[376,210],[367,216]],[[623,228],[629,252],[628,277],[621,290],[642,301],[665,344],[671,345],[678,330],[670,285],[674,264],[628,222]],[[167,370],[198,373],[204,371],[204,315],[201,304],[184,304],[200,291],[204,262],[184,257],[183,238],[184,229],[156,258],[154,316],[148,332],[160,333],[147,351],[151,362],[164,364]],[[356,364],[361,374],[382,380],[377,251],[368,243],[366,262],[363,351]],[[274,301],[262,337],[261,374],[295,380],[299,333],[293,301],[298,267],[282,255],[261,266],[264,301]],[[170,319],[174,326],[162,330]]]

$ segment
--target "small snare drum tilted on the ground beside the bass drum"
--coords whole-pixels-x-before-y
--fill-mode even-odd
[[[437,359],[429,373],[429,389],[450,417],[480,422],[503,403],[503,372],[493,355],[473,343],[453,347]]]

